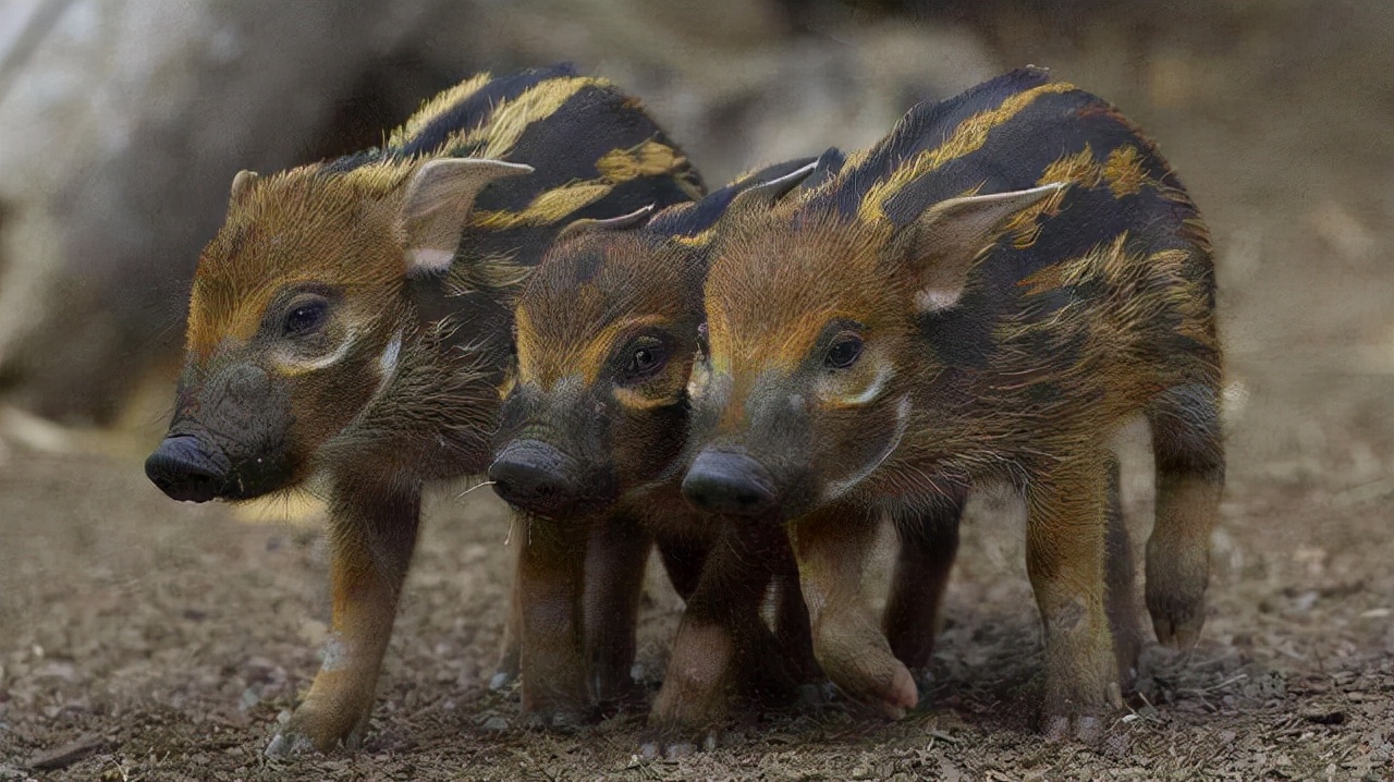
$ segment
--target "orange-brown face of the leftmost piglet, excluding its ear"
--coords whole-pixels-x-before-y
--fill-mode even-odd
[[[393,369],[395,208],[293,171],[236,195],[199,259],[169,436],[146,463],[176,499],[294,485]]]

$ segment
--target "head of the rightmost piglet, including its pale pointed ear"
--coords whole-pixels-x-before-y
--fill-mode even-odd
[[[916,383],[937,371],[919,318],[956,307],[1002,226],[1058,191],[952,198],[903,224],[849,215],[821,191],[781,199],[774,183],[739,197],[705,283],[687,500],[792,519],[875,474],[912,425]]]

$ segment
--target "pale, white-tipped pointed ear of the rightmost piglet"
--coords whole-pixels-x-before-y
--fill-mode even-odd
[[[969,269],[1013,215],[1055,195],[1064,183],[940,201],[901,229],[896,244],[920,272],[921,312],[948,309],[963,296]]]

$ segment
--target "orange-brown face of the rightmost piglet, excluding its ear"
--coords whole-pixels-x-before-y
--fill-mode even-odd
[[[775,209],[723,226],[705,286],[684,493],[792,517],[855,486],[903,434],[913,290],[888,233]]]

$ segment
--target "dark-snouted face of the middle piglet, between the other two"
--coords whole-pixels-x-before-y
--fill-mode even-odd
[[[563,240],[517,308],[517,367],[489,478],[534,513],[599,507],[683,445],[701,272],[641,231]]]

